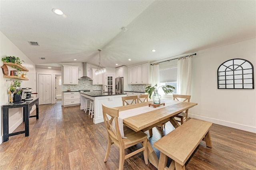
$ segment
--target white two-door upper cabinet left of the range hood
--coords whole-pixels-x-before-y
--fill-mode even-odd
[[[63,84],[78,84],[78,66],[63,65]]]

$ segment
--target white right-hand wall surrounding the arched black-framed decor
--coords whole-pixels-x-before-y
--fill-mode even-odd
[[[229,59],[246,59],[254,66],[256,39],[196,52],[192,67],[189,117],[256,133],[256,90],[218,89],[217,69]]]

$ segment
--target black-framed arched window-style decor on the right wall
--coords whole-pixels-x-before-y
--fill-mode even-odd
[[[231,59],[217,70],[218,89],[254,89],[254,70],[250,61]]]

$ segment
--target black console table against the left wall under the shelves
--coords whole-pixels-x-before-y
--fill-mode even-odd
[[[30,111],[32,109],[32,106],[36,105],[36,115],[30,116]],[[9,133],[9,109],[10,108],[17,108],[17,107],[23,107],[23,122],[25,122],[25,131],[19,131],[14,133]],[[3,105],[3,142],[6,142],[9,140],[10,136],[13,135],[19,135],[22,133],[25,133],[25,137],[29,136],[29,118],[30,117],[36,117],[38,119],[38,98],[34,98],[30,101],[24,101],[21,103],[15,103],[15,104],[6,104]]]

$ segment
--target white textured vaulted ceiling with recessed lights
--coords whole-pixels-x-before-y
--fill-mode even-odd
[[[130,66],[256,38],[256,1],[1,0],[0,31],[35,64],[98,65],[102,49],[103,66]]]

